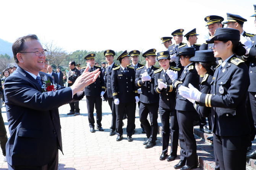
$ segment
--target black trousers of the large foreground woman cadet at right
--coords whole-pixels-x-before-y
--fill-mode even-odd
[[[213,134],[215,170],[245,170],[250,134],[227,137]]]

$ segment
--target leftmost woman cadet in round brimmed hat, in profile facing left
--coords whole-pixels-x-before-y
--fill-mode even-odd
[[[174,166],[175,169],[190,170],[197,167],[196,156],[196,140],[194,138],[193,122],[197,118],[197,112],[193,107],[193,103],[186,100],[179,94],[178,87],[193,84],[199,89],[199,75],[195,68],[195,63],[190,61],[194,57],[195,50],[193,47],[184,47],[180,49],[177,56],[180,56],[180,62],[184,66],[180,78],[175,71],[167,70],[167,75],[176,87],[176,104],[177,119],[179,124],[179,140],[180,140],[180,162]]]

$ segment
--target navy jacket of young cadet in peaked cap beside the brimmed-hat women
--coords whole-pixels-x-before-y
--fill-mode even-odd
[[[169,70],[180,72],[180,68],[170,67]],[[164,69],[160,68],[155,73],[155,87],[154,90],[157,94],[160,94],[159,106],[165,109],[174,109],[176,99],[176,87],[173,86],[172,80],[167,75],[165,76]],[[162,90],[158,87],[157,81],[162,81],[167,84],[167,88]]]

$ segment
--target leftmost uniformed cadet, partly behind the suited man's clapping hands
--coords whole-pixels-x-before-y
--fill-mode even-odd
[[[84,95],[86,96],[86,104],[87,104],[87,111],[88,111],[88,120],[89,120],[89,126],[90,126],[90,132],[94,133],[94,105],[96,109],[96,122],[97,122],[97,129],[99,131],[104,131],[104,129],[101,127],[101,120],[102,120],[102,99],[100,96],[103,96],[105,92],[105,83],[104,78],[102,75],[102,71],[100,69],[100,66],[95,65],[95,54],[88,54],[84,57],[86,60],[87,66],[89,67],[89,71],[92,72],[94,70],[97,70],[99,68],[100,75],[97,77],[96,81],[89,86],[86,86],[84,88]],[[83,74],[85,68],[81,69],[81,74]]]

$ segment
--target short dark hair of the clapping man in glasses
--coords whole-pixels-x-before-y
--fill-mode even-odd
[[[16,63],[19,63],[19,60],[17,58],[17,54],[21,51],[24,51],[27,47],[24,45],[24,42],[29,41],[29,40],[38,40],[37,36],[34,34],[29,34],[24,37],[19,37],[12,46],[13,49],[13,57],[14,61]]]

